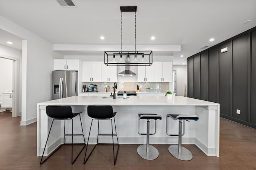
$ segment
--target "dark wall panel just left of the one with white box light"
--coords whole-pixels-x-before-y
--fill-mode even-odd
[[[209,50],[209,101],[218,103],[218,47]]]

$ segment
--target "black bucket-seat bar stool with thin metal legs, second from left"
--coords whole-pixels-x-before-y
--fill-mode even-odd
[[[85,155],[84,155],[84,164],[86,163],[86,161],[88,160],[88,158],[90,157],[90,155],[92,154],[93,150],[95,149],[95,147],[98,144],[109,144],[109,143],[98,143],[99,136],[110,136],[111,135],[112,136],[112,145],[113,145],[114,165],[115,165],[116,164],[116,157],[117,157],[118,150],[119,150],[119,144],[118,144],[117,133],[116,134],[113,133],[113,123],[112,123],[112,119],[111,118],[114,117],[114,124],[115,124],[115,130],[116,130],[116,120],[115,120],[116,112],[113,112],[112,106],[88,106],[87,107],[87,113],[88,113],[88,116],[92,117],[92,121],[93,120],[98,120],[98,135],[97,135],[97,144],[94,146],[94,148],[90,152],[89,156],[86,158],[86,152],[87,152],[89,138],[90,138],[90,133],[91,133],[91,129],[92,129],[92,123],[91,123],[90,132],[89,132],[88,141],[87,141],[87,146],[86,146]],[[99,123],[100,123],[100,120],[110,120],[111,121],[112,134],[100,134],[99,133]],[[114,143],[114,136],[116,136],[117,143]],[[115,152],[114,152],[114,144],[118,145],[116,157],[115,157]]]

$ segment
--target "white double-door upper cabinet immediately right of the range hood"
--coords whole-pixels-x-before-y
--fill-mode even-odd
[[[153,81],[153,65],[138,66],[138,82],[152,82]]]

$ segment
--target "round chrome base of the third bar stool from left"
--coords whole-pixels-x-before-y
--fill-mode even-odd
[[[146,160],[154,160],[158,157],[159,152],[158,150],[153,147],[152,145],[149,145],[149,152],[147,153],[147,149],[146,149],[147,145],[140,145],[137,149],[137,153],[140,155],[140,157],[142,157],[143,159]]]

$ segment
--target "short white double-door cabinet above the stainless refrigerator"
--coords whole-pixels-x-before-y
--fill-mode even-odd
[[[78,70],[78,60],[55,59],[54,70]]]

